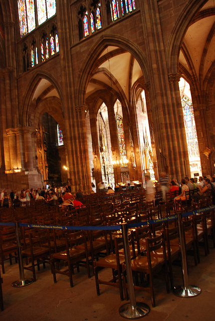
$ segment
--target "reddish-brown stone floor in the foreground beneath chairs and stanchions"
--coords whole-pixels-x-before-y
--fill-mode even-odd
[[[201,249],[200,263],[193,264],[193,258],[188,256],[188,283],[199,286],[201,294],[192,298],[181,298],[172,292],[166,293],[165,283],[155,279],[156,307],[151,307],[149,293],[136,291],[136,301],[150,306],[150,312],[144,316],[147,321],[213,321],[215,320],[215,249],[210,244],[210,254],[203,255]],[[107,276],[107,272],[100,273]],[[120,301],[118,289],[100,285],[101,294],[97,296],[94,277],[87,278],[86,270],[81,269],[74,275],[74,287],[69,279],[57,275],[54,284],[50,267],[37,271],[37,281],[15,288],[12,282],[19,280],[18,264],[6,263],[6,273],[3,276],[4,311],[0,312],[1,321],[118,321],[119,307],[126,303]],[[25,277],[30,278],[30,271],[25,271]],[[181,285],[181,270],[174,266],[175,285]]]

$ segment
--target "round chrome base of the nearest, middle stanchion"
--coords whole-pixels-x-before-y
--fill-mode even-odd
[[[130,303],[125,303],[119,308],[119,314],[127,319],[138,319],[145,316],[150,311],[150,307],[143,302],[136,302],[133,308]]]

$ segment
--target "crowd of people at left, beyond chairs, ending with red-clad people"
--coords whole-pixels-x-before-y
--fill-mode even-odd
[[[9,194],[5,189],[1,191],[0,194],[0,204],[1,207],[9,208],[11,206],[28,206],[31,204],[31,200],[39,201],[42,200],[47,204],[59,204],[61,207],[83,206],[83,193],[79,189],[74,195],[71,193],[70,186],[62,186],[47,189],[37,188],[37,189],[23,189],[21,191],[13,190]]]

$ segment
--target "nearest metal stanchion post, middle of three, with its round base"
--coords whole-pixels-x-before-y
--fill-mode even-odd
[[[122,226],[122,236],[123,236],[123,244],[124,244],[125,264],[126,264],[130,303],[125,303],[122,306],[120,306],[119,314],[128,319],[137,319],[148,314],[148,312],[150,311],[150,307],[143,302],[136,302],[135,292],[134,292],[134,283],[133,283],[133,277],[132,277],[132,269],[131,269],[130,249],[129,249],[129,243],[128,243],[128,227],[126,223],[121,224],[121,226]]]

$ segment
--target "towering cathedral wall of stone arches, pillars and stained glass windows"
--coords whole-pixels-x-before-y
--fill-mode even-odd
[[[214,1],[45,3],[0,0],[1,187],[213,175]]]

